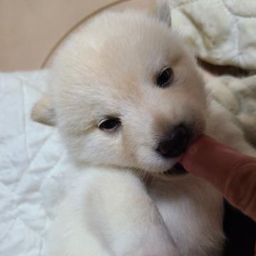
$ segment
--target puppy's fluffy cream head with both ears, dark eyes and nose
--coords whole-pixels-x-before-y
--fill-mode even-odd
[[[33,119],[56,124],[76,161],[164,172],[203,130],[203,81],[164,4],[155,16],[93,19],[59,50],[51,73]]]

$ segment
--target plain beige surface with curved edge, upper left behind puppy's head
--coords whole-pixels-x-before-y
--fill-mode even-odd
[[[149,0],[0,0],[0,71],[48,63],[55,46],[76,24],[105,8],[146,8]]]

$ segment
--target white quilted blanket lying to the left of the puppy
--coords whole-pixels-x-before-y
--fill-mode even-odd
[[[0,255],[44,255],[62,195],[65,151],[54,128],[32,122],[48,71],[0,74]]]

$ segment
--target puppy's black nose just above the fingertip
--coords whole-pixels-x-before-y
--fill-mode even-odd
[[[156,150],[166,158],[179,156],[186,149],[188,136],[188,129],[183,125],[179,125],[171,130],[168,139],[160,142]]]

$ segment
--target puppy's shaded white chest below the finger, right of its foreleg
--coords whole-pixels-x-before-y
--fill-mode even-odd
[[[221,255],[223,198],[214,188],[187,175],[169,182],[157,181],[149,193],[181,255]]]

